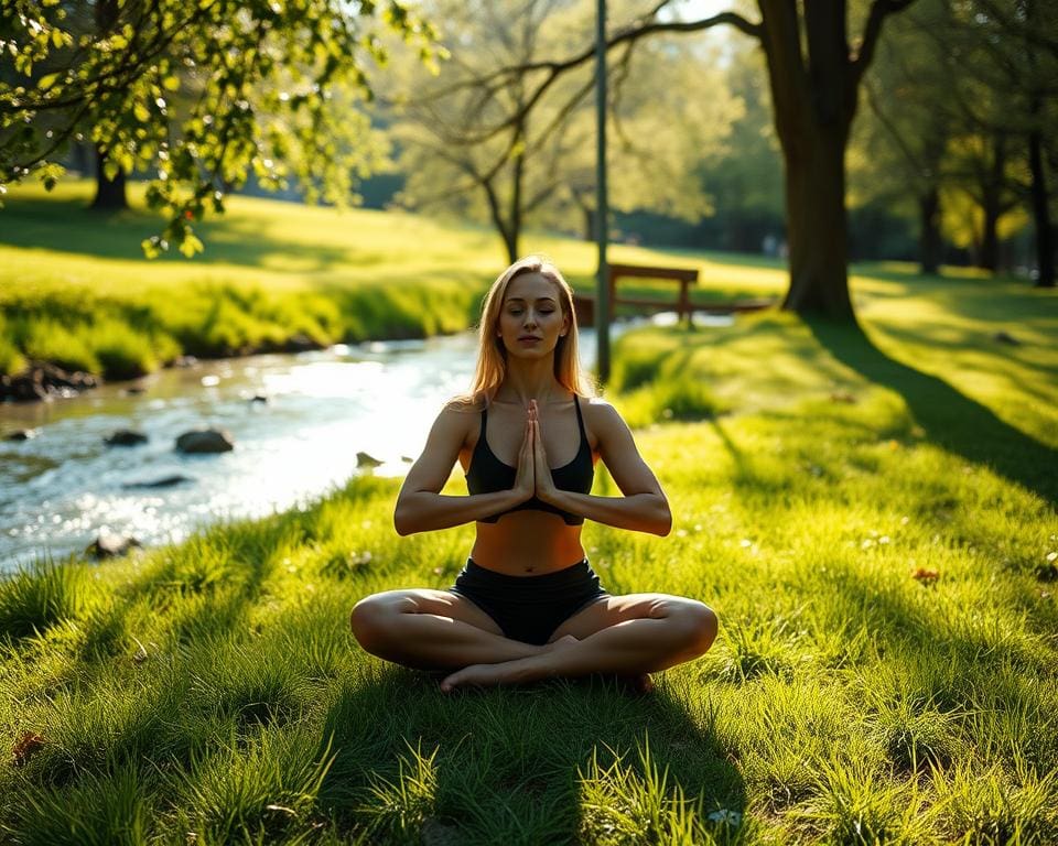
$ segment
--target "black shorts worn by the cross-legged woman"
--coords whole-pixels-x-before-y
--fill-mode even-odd
[[[466,560],[449,588],[496,621],[511,640],[543,646],[565,620],[604,596],[587,558],[542,576],[508,576]]]

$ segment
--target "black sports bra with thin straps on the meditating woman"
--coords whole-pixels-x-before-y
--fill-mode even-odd
[[[572,462],[551,470],[551,478],[554,479],[554,486],[561,490],[590,494],[592,481],[595,478],[595,465],[592,463],[592,447],[587,443],[587,433],[584,431],[584,417],[581,416],[581,401],[575,393],[573,394],[573,403],[576,406],[576,424],[581,430],[581,446]],[[485,437],[487,420],[488,414],[485,409],[482,409],[482,433],[477,436],[477,445],[471,456],[471,464],[466,468],[466,489],[471,494],[494,494],[497,490],[510,490],[515,487],[515,477],[518,475],[517,467],[504,464],[489,448],[488,440]],[[483,517],[481,521],[483,523],[495,523],[504,514],[527,509],[550,511],[552,514],[561,517],[569,525],[580,525],[584,522],[583,517],[563,511],[561,508],[555,508],[536,497],[527,499],[521,505],[507,511]]]

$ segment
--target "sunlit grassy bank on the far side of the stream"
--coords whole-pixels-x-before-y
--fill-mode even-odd
[[[424,337],[476,319],[481,297],[506,264],[488,230],[414,215],[336,212],[233,197],[202,226],[194,260],[147,261],[140,241],[158,218],[142,208],[89,212],[88,182],[52,194],[28,185],[0,210],[0,373],[43,359],[109,379],[150,372],[177,356],[219,357],[315,344]],[[570,281],[594,289],[594,248],[529,234],[523,249],[559,260]],[[721,263],[616,247],[615,260],[695,265],[699,300],[774,293],[776,265]],[[623,290],[676,297],[672,285]]]

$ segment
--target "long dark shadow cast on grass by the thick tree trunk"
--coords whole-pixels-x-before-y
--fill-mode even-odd
[[[806,318],[820,345],[842,364],[899,393],[933,443],[986,465],[1058,506],[1058,451],[1000,420],[948,382],[882,352],[859,326]]]

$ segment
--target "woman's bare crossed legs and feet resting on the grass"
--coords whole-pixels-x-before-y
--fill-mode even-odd
[[[374,655],[418,669],[455,669],[441,690],[594,673],[637,676],[704,653],[716,615],[667,594],[608,596],[565,620],[542,646],[504,637],[469,600],[444,590],[388,590],[357,603],[353,633]]]

